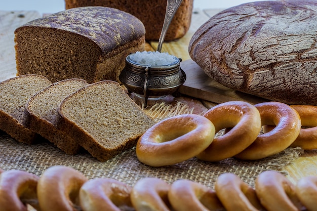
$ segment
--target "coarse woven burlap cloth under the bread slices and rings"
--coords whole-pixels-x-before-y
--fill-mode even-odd
[[[184,106],[160,105],[147,112],[160,120],[169,116],[190,113],[192,110]],[[150,167],[140,163],[135,148],[128,150],[106,162],[100,162],[87,153],[66,155],[49,142],[26,145],[17,142],[4,132],[0,132],[0,167],[4,170],[24,170],[41,176],[52,165],[66,165],[85,174],[89,179],[104,177],[113,178],[133,186],[144,177],[161,178],[168,183],[179,179],[189,179],[213,188],[217,177],[225,172],[234,173],[243,181],[254,186],[255,178],[263,171],[283,171],[284,166],[297,159],[301,150],[286,149],[283,152],[256,161],[242,161],[228,158],[220,162],[210,163],[191,158],[181,163]]]

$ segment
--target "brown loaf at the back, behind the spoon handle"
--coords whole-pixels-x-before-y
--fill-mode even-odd
[[[159,40],[163,27],[167,0],[65,0],[66,9],[87,6],[103,6],[116,8],[128,12],[139,18],[146,29],[147,40]],[[167,31],[165,40],[181,38],[186,34],[191,22],[193,0],[183,0],[171,25]]]

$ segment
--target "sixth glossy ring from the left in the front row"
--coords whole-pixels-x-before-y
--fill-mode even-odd
[[[215,190],[228,211],[263,210],[256,191],[232,173],[221,174],[216,180]]]

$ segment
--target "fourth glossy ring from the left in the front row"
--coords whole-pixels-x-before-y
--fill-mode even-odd
[[[158,178],[143,178],[139,180],[131,191],[131,202],[136,211],[170,210],[168,191],[170,185]]]

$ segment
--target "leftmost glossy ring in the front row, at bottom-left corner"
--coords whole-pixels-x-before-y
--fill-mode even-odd
[[[36,186],[38,177],[34,174],[9,170],[0,174],[0,209],[2,211],[27,211],[26,204],[40,210]]]

